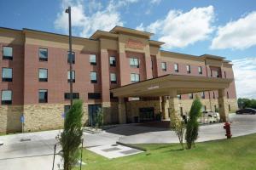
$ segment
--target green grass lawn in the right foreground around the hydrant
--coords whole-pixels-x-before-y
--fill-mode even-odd
[[[180,150],[178,144],[137,144],[148,151],[135,156],[108,160],[84,150],[86,170],[216,169],[256,170],[256,134],[196,144]]]

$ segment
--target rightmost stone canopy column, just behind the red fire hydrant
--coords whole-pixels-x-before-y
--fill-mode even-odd
[[[223,122],[229,122],[229,107],[228,100],[225,96],[224,89],[218,90],[218,111],[220,119]]]

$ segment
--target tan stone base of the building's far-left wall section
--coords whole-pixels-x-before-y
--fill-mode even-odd
[[[0,133],[16,133],[22,131],[20,116],[23,105],[0,106]]]

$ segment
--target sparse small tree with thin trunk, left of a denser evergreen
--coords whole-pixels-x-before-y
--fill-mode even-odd
[[[179,144],[183,147],[183,133],[185,132],[185,122],[180,116],[177,116],[177,112],[172,110],[170,116],[171,128],[175,131]]]

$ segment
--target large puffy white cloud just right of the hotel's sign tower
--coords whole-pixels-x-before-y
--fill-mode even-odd
[[[207,39],[214,30],[213,20],[212,6],[192,8],[186,13],[181,10],[170,10],[165,19],[156,20],[144,29],[157,34],[160,41],[166,42],[166,48],[184,48]]]

